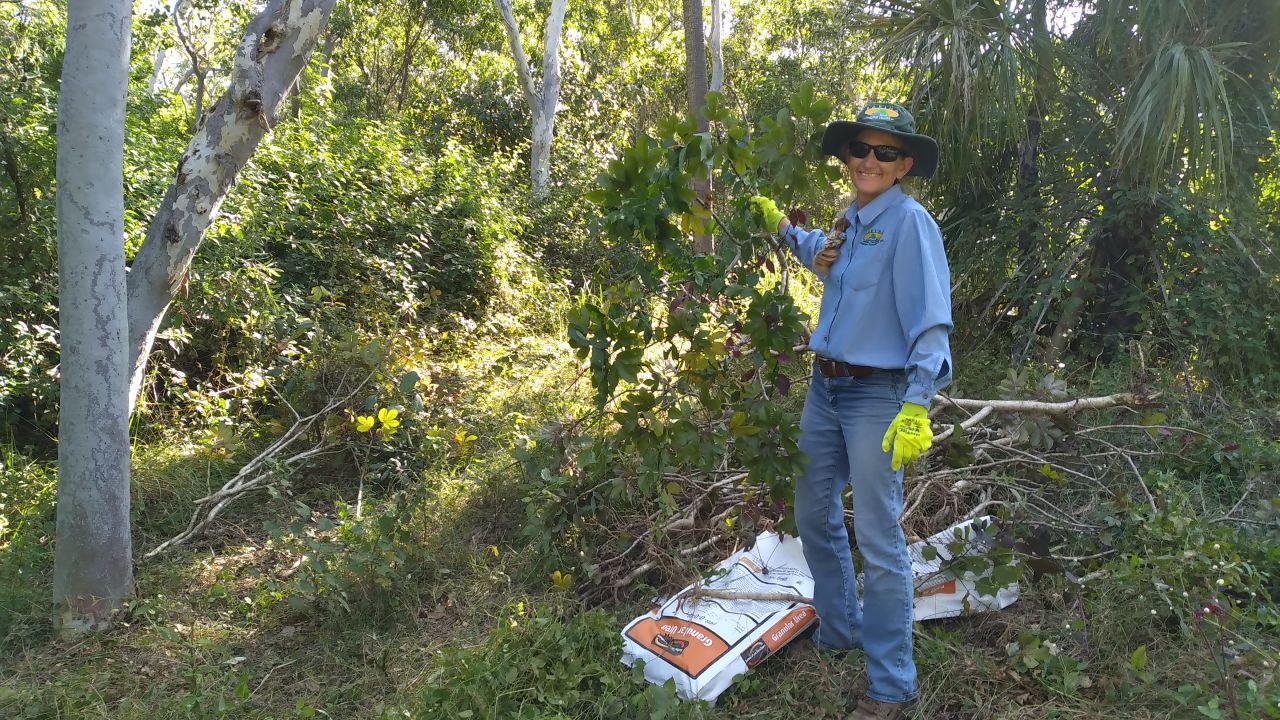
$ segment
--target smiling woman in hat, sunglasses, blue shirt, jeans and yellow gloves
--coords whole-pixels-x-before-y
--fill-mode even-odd
[[[856,120],[827,126],[822,150],[840,158],[856,191],[837,223],[844,237],[792,225],[765,197],[751,204],[823,281],[809,340],[813,380],[800,418],[805,469],[796,484],[796,524],[817,580],[819,646],[861,647],[867,655],[867,694],[849,717],[882,720],[900,717],[919,694],[911,562],[899,524],[902,465],[932,443],[928,406],[951,379],[942,233],[900,184],[908,176],[931,177],[938,147],[915,132],[904,108],[872,102]],[[861,606],[841,500],[850,483]]]

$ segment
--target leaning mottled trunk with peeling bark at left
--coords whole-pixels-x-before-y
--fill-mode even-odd
[[[129,409],[146,375],[151,343],[191,259],[236,176],[275,126],[285,91],[306,65],[335,0],[270,0],[244,29],[230,86],[214,102],[178,161],[129,272]]]

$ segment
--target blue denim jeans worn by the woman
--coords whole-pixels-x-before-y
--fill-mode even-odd
[[[867,694],[884,702],[906,702],[919,692],[911,657],[911,561],[899,524],[902,470],[892,470],[891,454],[881,450],[905,393],[901,372],[824,378],[814,366],[800,416],[799,445],[808,461],[796,484],[795,511],[817,585],[818,643],[861,647]],[[850,483],[863,556],[860,607],[841,498]]]

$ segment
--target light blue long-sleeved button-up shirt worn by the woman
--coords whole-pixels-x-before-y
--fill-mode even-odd
[[[951,270],[938,223],[896,184],[865,208],[850,205],[845,218],[809,347],[854,365],[902,369],[902,400],[928,407],[951,382]],[[827,234],[791,225],[782,240],[812,270]]]

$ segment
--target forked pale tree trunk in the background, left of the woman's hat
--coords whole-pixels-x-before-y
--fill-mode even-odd
[[[552,141],[556,137],[556,110],[559,106],[559,44],[564,28],[564,6],[567,0],[552,0],[552,10],[547,15],[547,31],[543,36],[543,77],[541,86],[534,79],[520,40],[520,24],[511,8],[511,0],[493,0],[507,28],[507,42],[516,63],[520,87],[525,92],[529,113],[534,124],[532,147],[529,152],[530,192],[534,200],[547,197],[552,177]]]

